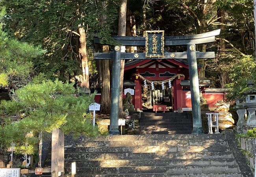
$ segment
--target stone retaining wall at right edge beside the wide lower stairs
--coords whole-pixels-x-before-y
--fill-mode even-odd
[[[250,167],[254,173],[255,168],[255,153],[256,153],[256,138],[238,138],[241,151],[247,159],[247,165]]]

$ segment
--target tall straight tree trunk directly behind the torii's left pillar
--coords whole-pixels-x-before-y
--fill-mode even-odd
[[[119,24],[118,24],[118,35],[125,36],[126,33],[126,7],[127,0],[121,0],[121,6],[119,11]],[[124,60],[121,60],[121,71],[120,71],[120,92],[119,92],[119,116],[123,117],[124,112],[122,111],[122,85],[124,82]]]

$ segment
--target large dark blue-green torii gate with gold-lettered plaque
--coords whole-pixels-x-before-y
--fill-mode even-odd
[[[189,80],[191,89],[193,131],[192,134],[201,134],[202,120],[199,97],[199,83],[197,73],[197,59],[214,58],[214,52],[196,52],[196,44],[215,41],[220,30],[197,35],[164,37],[164,31],[146,31],[146,37],[114,36],[122,46],[145,46],[145,53],[124,53],[121,46],[115,46],[113,52],[94,53],[94,59],[113,59],[111,109],[109,135],[120,135],[118,129],[119,118],[119,90],[120,90],[120,61],[121,59],[188,59]],[[101,43],[95,38],[95,43]],[[164,46],[187,45],[187,52],[164,52]]]

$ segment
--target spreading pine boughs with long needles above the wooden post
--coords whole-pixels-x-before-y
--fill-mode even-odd
[[[18,153],[33,154],[40,131],[51,132],[60,128],[65,134],[74,136],[96,136],[100,133],[97,127],[93,127],[91,115],[86,113],[96,93],[76,97],[72,84],[62,83],[58,79],[41,83],[38,83],[38,78],[36,80],[36,83],[16,90],[13,100],[1,101],[0,109],[5,115],[1,118],[0,126],[2,147],[14,143]]]

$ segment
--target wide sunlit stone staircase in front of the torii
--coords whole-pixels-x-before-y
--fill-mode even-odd
[[[76,177],[242,176],[222,134],[65,136],[65,176],[74,161]]]

